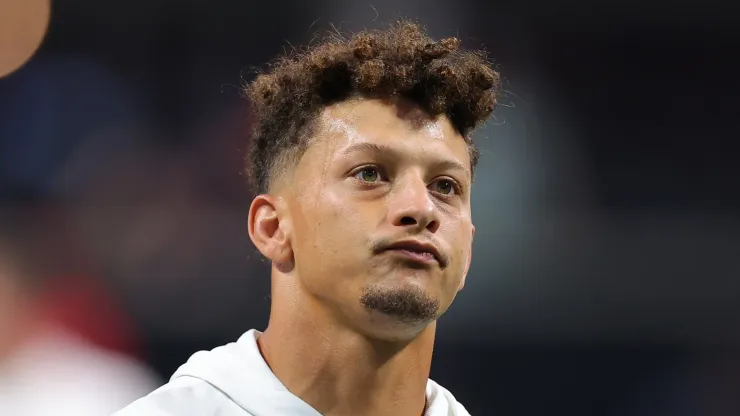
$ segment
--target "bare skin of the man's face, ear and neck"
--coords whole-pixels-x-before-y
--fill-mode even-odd
[[[475,228],[467,143],[401,99],[327,107],[297,164],[250,207],[272,262],[258,344],[275,375],[326,416],[422,414],[436,319],[462,289]],[[396,251],[433,244],[441,262]]]

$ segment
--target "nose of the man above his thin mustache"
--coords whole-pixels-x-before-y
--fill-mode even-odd
[[[421,178],[410,177],[398,181],[389,195],[388,209],[391,223],[415,232],[439,229],[439,212],[426,183]]]

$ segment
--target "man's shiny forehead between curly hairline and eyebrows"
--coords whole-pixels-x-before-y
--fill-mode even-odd
[[[419,160],[457,163],[470,172],[468,143],[449,119],[430,117],[402,99],[356,99],[329,106],[317,133],[315,144],[328,157],[371,144]]]

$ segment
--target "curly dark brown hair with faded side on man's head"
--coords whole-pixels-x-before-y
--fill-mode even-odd
[[[457,38],[434,41],[419,24],[399,21],[349,39],[329,34],[279,58],[244,87],[256,119],[246,158],[253,190],[268,192],[276,172],[294,163],[315,133],[320,111],[353,97],[400,96],[430,116],[446,115],[465,137],[496,107],[500,78],[483,51]]]

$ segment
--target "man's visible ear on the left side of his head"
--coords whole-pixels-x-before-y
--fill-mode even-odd
[[[290,221],[281,218],[281,202],[274,195],[258,195],[249,206],[249,238],[263,256],[278,266],[293,261]]]

